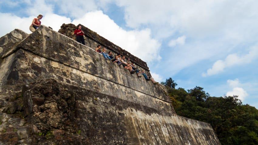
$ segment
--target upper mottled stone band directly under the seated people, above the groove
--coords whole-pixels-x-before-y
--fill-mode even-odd
[[[128,88],[144,93],[148,92],[146,94],[170,102],[164,86],[153,85],[151,82],[146,82],[143,77],[137,78],[136,74],[130,75],[128,70],[124,70],[110,61],[105,61],[104,57],[93,49],[72,39],[67,39],[66,36],[43,25],[20,42],[16,48],[22,48],[51,60],[53,67],[55,65],[58,67],[58,63],[61,63]],[[41,58],[36,57],[33,60],[40,62]]]

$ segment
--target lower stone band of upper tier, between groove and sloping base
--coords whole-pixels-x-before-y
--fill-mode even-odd
[[[17,59],[17,56],[19,56],[19,59]],[[164,96],[159,93],[161,90],[158,88],[148,88],[154,87],[154,85],[151,84],[151,82],[145,81],[144,78],[141,78],[144,83],[135,84],[136,88],[139,88],[139,90],[137,90],[108,79],[103,79],[102,77],[71,68],[59,62],[36,56],[35,54],[23,49],[19,49],[16,53],[8,56],[3,62],[8,59],[11,59],[12,61],[9,60],[6,65],[8,65],[7,67],[12,66],[13,69],[7,69],[12,71],[3,74],[5,77],[2,79],[2,85],[26,84],[33,83],[40,78],[53,78],[73,86],[80,86],[92,91],[98,91],[106,95],[139,103],[154,109],[164,110],[167,112],[173,111],[170,103],[163,100]],[[4,66],[4,63],[2,64],[3,65],[1,67]],[[2,69],[0,68],[0,71],[1,70]],[[122,70],[126,71],[124,69]],[[130,79],[138,78],[131,76]],[[142,89],[140,89],[141,87]]]

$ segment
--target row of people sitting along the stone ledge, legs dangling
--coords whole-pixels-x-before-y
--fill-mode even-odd
[[[144,76],[144,78],[147,80],[147,81],[150,81],[153,83],[153,84],[158,84],[158,82],[156,82],[152,77],[150,76],[147,76],[147,74],[144,72],[144,70],[142,70],[140,72],[140,70],[135,66],[135,64],[133,62],[130,61],[130,59],[128,58],[127,61],[125,60],[125,56],[121,56],[120,53],[117,54],[116,57],[113,57],[112,56],[112,52],[109,51],[107,53],[107,49],[104,48],[101,50],[101,45],[98,45],[95,49],[95,51],[99,52],[100,54],[102,54],[104,56],[104,58],[106,60],[110,60],[112,61],[113,63],[117,63],[119,66],[122,65],[124,67],[124,69],[128,69],[130,71],[131,74],[134,74],[136,72],[138,78],[140,78],[141,76]]]

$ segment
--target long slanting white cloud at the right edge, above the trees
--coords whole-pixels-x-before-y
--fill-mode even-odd
[[[248,54],[239,56],[238,54],[230,54],[225,60],[217,60],[212,68],[208,69],[207,72],[202,73],[203,77],[212,76],[223,72],[225,68],[232,67],[236,65],[243,65],[252,62],[252,60],[257,58],[258,46],[253,46],[250,48]]]

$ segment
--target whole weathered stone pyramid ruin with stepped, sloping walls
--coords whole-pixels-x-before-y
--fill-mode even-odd
[[[95,52],[146,62],[82,27],[40,26],[0,38],[0,144],[220,144],[208,123],[176,115],[166,88]]]

